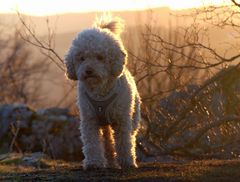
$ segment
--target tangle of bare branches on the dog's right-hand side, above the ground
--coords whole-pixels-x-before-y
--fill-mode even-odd
[[[140,44],[129,46],[143,96],[145,139],[160,153],[238,157],[239,45],[222,42],[222,49],[210,31],[228,28],[239,38],[239,15],[230,5],[179,18],[185,16],[192,23],[168,30],[168,36],[150,19],[139,32]]]

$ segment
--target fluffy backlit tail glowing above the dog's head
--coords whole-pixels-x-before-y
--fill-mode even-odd
[[[124,30],[123,20],[119,17],[112,17],[110,14],[103,14],[101,17],[97,17],[94,26],[108,29],[116,35],[120,35]]]

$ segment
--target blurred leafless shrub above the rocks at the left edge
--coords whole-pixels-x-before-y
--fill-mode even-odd
[[[7,38],[1,37],[0,42],[0,103],[37,105],[42,100],[42,82],[38,80],[47,71],[44,58],[32,61],[33,54],[18,30]]]

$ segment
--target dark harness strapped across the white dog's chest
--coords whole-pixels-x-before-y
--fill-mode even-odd
[[[107,116],[107,110],[109,108],[109,105],[116,99],[117,93],[114,93],[111,97],[109,97],[106,100],[97,101],[90,97],[87,92],[85,92],[85,95],[88,99],[88,101],[91,103],[92,107],[94,108],[95,114],[98,118],[98,122],[100,126],[106,126],[111,124],[111,121],[109,117]]]

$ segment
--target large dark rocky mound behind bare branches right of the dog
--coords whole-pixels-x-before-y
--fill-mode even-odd
[[[227,147],[240,137],[240,122],[208,127],[224,117],[240,116],[240,68],[232,68],[224,69],[207,80],[211,84],[201,89],[197,102],[190,99],[199,91],[198,85],[188,85],[162,98],[156,113],[148,121],[149,138],[154,140],[154,144],[159,148],[163,146],[167,152],[181,150],[187,155],[228,156],[230,151],[224,149],[224,145]],[[219,79],[212,81],[216,77]],[[201,131],[204,131],[203,134]],[[237,143],[230,150],[240,156],[240,143]]]

